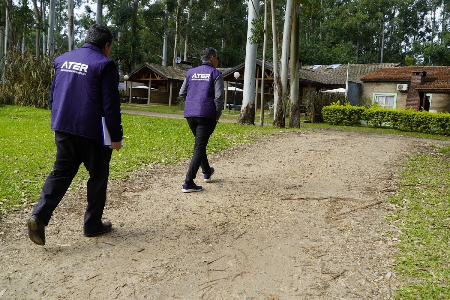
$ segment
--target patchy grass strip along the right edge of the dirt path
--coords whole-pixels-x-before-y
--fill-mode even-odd
[[[448,170],[445,157],[412,155],[401,170],[398,194],[389,197],[400,206],[387,217],[401,229],[394,269],[405,283],[396,299],[450,299]]]

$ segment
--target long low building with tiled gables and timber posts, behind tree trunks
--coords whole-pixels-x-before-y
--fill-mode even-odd
[[[348,66],[349,94],[348,98],[351,103],[356,103],[356,99],[360,98],[360,77],[365,76],[374,71],[378,71],[385,67],[396,67],[399,63],[383,63],[383,64],[354,64]],[[192,67],[192,64],[181,62],[177,67],[162,66],[155,63],[144,63],[133,70],[128,76],[128,89],[130,85],[137,85],[128,93],[129,102],[140,103],[165,103],[171,105],[175,103],[182,82],[186,76],[186,71]],[[243,87],[245,76],[245,62],[236,67],[219,68],[224,76],[225,81],[225,103],[239,104],[242,101],[242,92],[235,93],[234,85]],[[234,78],[234,73],[239,72],[238,78]],[[256,107],[260,107],[261,91],[264,92],[264,104],[268,107],[269,102],[273,102],[274,97],[274,66],[273,62],[266,61],[265,70],[262,69],[262,60],[257,59],[255,72],[256,90]],[[290,67],[288,70],[290,76]],[[265,77],[264,87],[261,88],[260,83],[262,76]],[[130,84],[131,82],[131,84]],[[307,94],[319,90],[330,90],[335,88],[346,87],[347,82],[347,65],[315,65],[302,66],[299,70],[299,98],[305,99]],[[151,86],[151,90],[148,90]],[[145,89],[147,87],[147,89]],[[129,91],[129,90],[128,90]]]

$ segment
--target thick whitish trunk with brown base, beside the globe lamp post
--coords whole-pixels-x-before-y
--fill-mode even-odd
[[[242,96],[241,112],[239,112],[238,123],[255,124],[255,69],[256,55],[258,50],[257,44],[252,44],[249,37],[252,36],[252,21],[258,18],[259,0],[248,1],[248,23],[247,23],[247,47],[245,53],[245,70],[244,91]]]

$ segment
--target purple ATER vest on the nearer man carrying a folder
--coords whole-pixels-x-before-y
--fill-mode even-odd
[[[105,116],[105,111],[100,74],[111,61],[97,46],[88,43],[55,58],[50,96],[52,130],[102,139],[100,117]],[[117,82],[112,82],[110,88],[117,90],[117,83],[118,74]],[[120,106],[118,91],[117,105]],[[120,120],[120,108],[118,113]]]

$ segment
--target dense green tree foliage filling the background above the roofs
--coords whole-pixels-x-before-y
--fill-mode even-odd
[[[286,1],[275,1],[277,45],[280,45]],[[382,62],[450,65],[449,2],[296,0],[295,5],[300,5],[299,57],[304,65]],[[76,11],[83,11],[74,20],[76,48],[83,44],[87,28],[95,23],[96,12],[91,4],[87,0],[75,1]],[[49,0],[3,0],[1,36],[5,35],[7,7],[10,25],[6,48],[22,47],[43,55]],[[54,45],[60,53],[68,48],[67,0],[56,0],[55,9]],[[167,65],[172,65],[174,53],[184,59],[187,41],[190,62],[200,63],[200,49],[210,45],[219,52],[219,67],[234,67],[245,59],[247,15],[247,1],[243,0],[103,0],[101,23],[113,32],[111,57],[126,73],[144,62],[162,63],[165,32]],[[262,24],[262,14],[260,18]],[[268,22],[271,28],[271,18]],[[38,47],[36,31],[40,32]],[[262,45],[262,28],[254,33],[254,40]],[[1,44],[3,55],[4,39]],[[271,60],[272,43],[268,45],[267,59]],[[262,57],[262,47],[258,47],[258,57]]]

